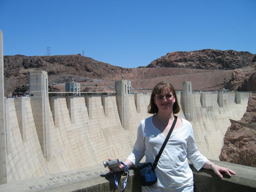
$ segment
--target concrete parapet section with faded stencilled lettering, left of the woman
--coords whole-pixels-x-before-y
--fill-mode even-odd
[[[142,165],[142,164],[141,164]],[[130,170],[130,177],[127,181],[125,191],[141,191],[139,181],[139,171]],[[126,172],[117,173],[119,187],[123,188]],[[135,183],[134,183],[135,181]],[[138,189],[138,190],[137,190]],[[107,192],[119,191],[116,188],[114,175],[102,165],[96,165],[88,168],[77,169],[68,172],[56,173],[37,177],[33,179],[17,181],[0,185],[0,192],[36,192],[36,191],[90,191],[90,192]]]

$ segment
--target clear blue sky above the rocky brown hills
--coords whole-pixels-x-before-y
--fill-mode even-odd
[[[120,67],[174,51],[256,54],[255,0],[0,0],[4,55],[82,54]]]

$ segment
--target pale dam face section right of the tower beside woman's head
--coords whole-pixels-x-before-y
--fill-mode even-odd
[[[222,94],[222,93],[221,93]],[[230,119],[240,120],[246,111],[249,92],[241,92],[241,102],[237,104],[236,93],[223,93],[223,107],[218,105],[218,93],[193,94],[193,120],[191,124],[199,150],[207,158],[218,160],[223,146],[223,137],[230,126]],[[200,100],[205,96],[205,107]]]

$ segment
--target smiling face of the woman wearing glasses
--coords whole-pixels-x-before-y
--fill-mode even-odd
[[[175,96],[173,92],[162,92],[161,94],[156,94],[154,97],[154,102],[158,107],[158,112],[169,112],[172,111],[173,103],[175,103]]]

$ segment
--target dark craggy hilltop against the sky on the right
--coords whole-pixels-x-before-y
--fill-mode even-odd
[[[256,56],[250,52],[203,49],[190,52],[170,52],[152,61],[147,67],[159,66],[227,70],[243,68],[255,61]]]

